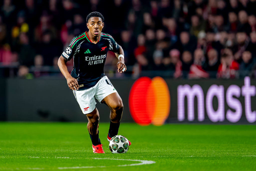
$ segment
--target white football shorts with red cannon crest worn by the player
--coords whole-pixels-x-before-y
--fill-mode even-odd
[[[107,76],[102,77],[95,86],[86,90],[73,90],[74,96],[83,112],[91,113],[95,109],[96,98],[100,103],[109,94],[117,93]]]

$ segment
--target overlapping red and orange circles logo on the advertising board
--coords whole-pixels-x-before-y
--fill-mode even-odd
[[[162,125],[170,112],[170,92],[161,77],[137,79],[129,94],[129,109],[140,125]]]

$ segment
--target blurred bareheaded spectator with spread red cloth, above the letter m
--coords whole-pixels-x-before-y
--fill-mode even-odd
[[[188,78],[209,78],[209,73],[202,68],[204,60],[204,52],[201,49],[196,49],[194,52],[194,63],[190,66]]]

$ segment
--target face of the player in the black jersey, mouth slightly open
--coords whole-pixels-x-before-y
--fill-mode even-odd
[[[103,27],[104,23],[100,17],[91,17],[88,20],[87,28],[93,36],[99,36]]]

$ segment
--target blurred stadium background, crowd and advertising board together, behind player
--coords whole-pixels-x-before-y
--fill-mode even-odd
[[[0,120],[87,121],[57,61],[98,11],[125,53],[124,74],[113,53],[105,63],[122,122],[255,124],[255,9],[255,0],[3,0]]]

